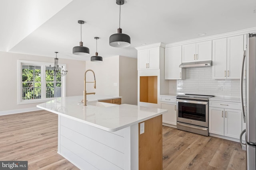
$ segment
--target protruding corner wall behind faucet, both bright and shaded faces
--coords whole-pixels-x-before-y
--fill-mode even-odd
[[[123,56],[103,58],[102,62],[86,62],[96,77],[96,89],[86,83],[86,92],[122,96],[122,104],[137,104],[137,59]],[[86,73],[86,82],[93,81],[92,72]]]

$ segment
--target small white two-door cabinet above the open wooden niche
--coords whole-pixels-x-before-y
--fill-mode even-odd
[[[159,69],[160,47],[138,50],[138,70]]]

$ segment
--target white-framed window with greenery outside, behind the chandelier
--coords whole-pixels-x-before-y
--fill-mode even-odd
[[[18,61],[18,104],[46,102],[65,96],[66,76],[46,73],[52,63]],[[64,69],[66,68],[65,64]]]

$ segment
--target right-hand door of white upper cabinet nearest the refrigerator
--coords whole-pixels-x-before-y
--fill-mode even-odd
[[[240,79],[240,69],[244,55],[244,35],[228,37],[227,51],[227,78]]]

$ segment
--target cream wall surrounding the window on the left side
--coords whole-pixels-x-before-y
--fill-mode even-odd
[[[19,113],[22,110],[36,107],[35,104],[18,105],[18,60],[54,63],[53,57],[25,55],[0,52],[0,115],[5,112]],[[66,96],[82,96],[85,61],[59,59],[59,63],[66,64]]]

